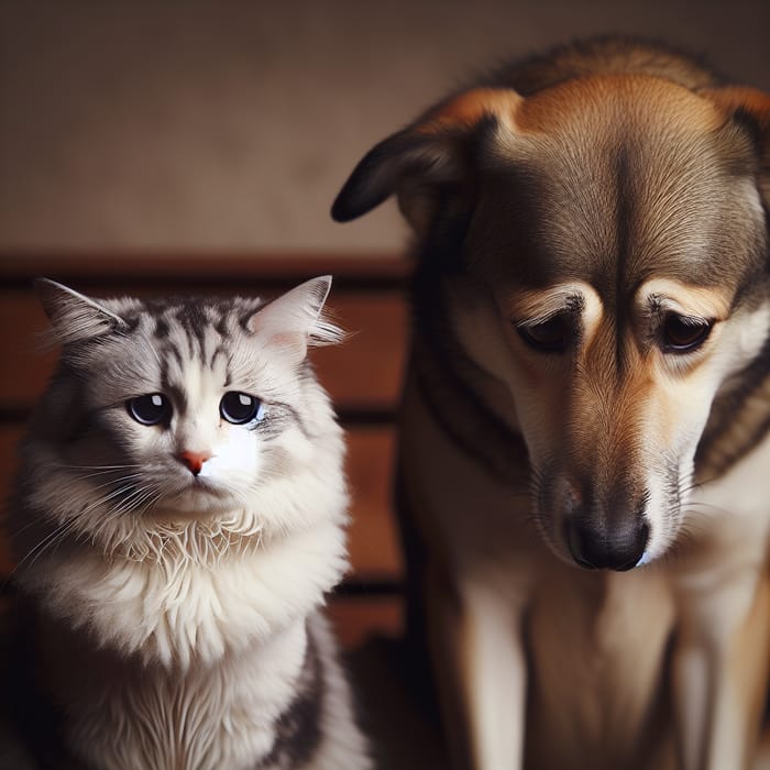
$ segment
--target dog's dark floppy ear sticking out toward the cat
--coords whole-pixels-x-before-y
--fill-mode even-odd
[[[520,102],[510,89],[474,88],[440,103],[363,157],[337,196],[331,216],[346,222],[397,194],[407,221],[424,234],[441,190],[469,183],[474,139],[484,127],[512,125]]]

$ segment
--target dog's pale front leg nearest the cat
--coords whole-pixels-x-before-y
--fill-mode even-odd
[[[461,586],[460,676],[475,770],[522,767],[527,667],[521,613],[494,586]]]

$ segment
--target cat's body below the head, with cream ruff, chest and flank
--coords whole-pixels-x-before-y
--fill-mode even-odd
[[[346,563],[339,522],[216,565],[72,560],[66,548],[45,561],[50,579],[30,586],[45,596],[40,684],[89,767],[367,767],[354,729],[338,756],[322,726],[327,711],[352,724],[317,614]]]

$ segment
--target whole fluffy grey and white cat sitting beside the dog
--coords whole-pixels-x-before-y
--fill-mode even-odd
[[[342,339],[330,283],[264,302],[36,282],[62,355],[11,542],[80,765],[371,767],[320,612],[348,568],[343,435],[307,359]]]

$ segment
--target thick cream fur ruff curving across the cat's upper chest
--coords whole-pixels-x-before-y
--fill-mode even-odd
[[[28,587],[52,616],[136,664],[218,663],[316,608],[346,566],[339,521],[316,525],[218,563],[44,557]]]

